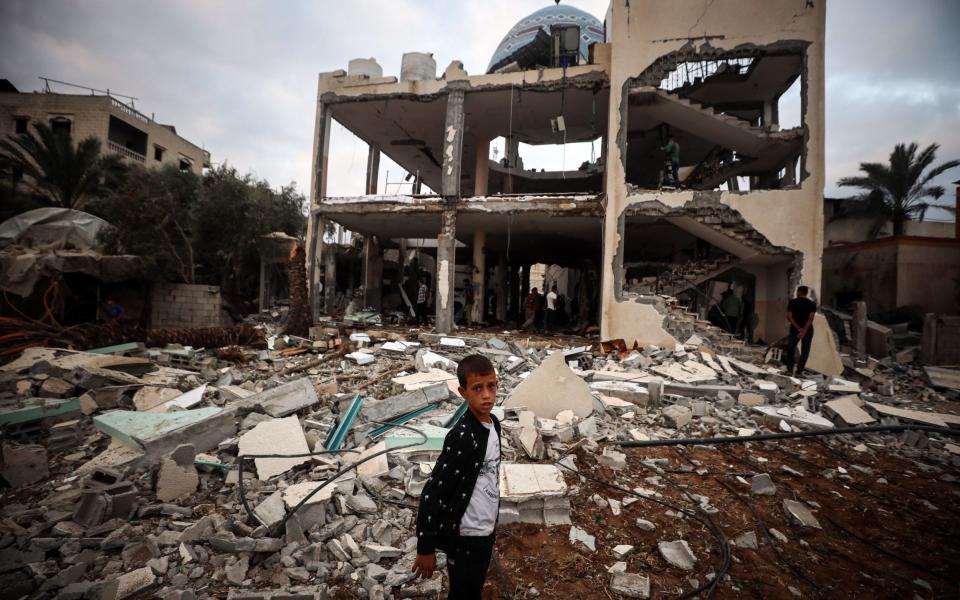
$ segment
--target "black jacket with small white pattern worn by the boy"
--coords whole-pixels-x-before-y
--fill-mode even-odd
[[[500,437],[500,421],[493,429]],[[473,487],[487,453],[490,430],[467,411],[447,432],[443,450],[420,494],[417,512],[417,554],[433,554],[437,548],[449,552],[451,542],[460,535],[460,519],[470,504]],[[501,445],[500,456],[503,457]]]

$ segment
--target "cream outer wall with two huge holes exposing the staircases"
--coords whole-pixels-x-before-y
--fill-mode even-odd
[[[607,34],[612,39],[610,72],[610,128],[608,136],[602,277],[601,334],[605,338],[633,338],[656,343],[662,327],[649,307],[618,297],[622,214],[631,204],[659,201],[681,206],[695,192],[631,193],[624,168],[626,135],[624,90],[659,58],[686,47],[730,50],[753,44],[758,47],[789,41],[807,43],[803,73],[803,122],[806,146],[799,186],[753,192],[716,192],[719,202],[737,210],[771,244],[797,251],[802,268],[792,279],[820,288],[823,246],[823,52],[825,3],[726,0],[701,4],[668,0],[628,2],[615,0]],[[761,279],[766,281],[761,282]],[[778,279],[778,278],[775,278]],[[786,279],[786,277],[779,277]],[[776,339],[786,331],[785,304],[792,281],[758,277],[758,335]],[[761,291],[763,290],[763,291]],[[762,312],[761,312],[762,311]],[[628,340],[629,342],[629,340]]]

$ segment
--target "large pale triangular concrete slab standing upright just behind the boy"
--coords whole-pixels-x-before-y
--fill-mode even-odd
[[[572,410],[584,419],[593,412],[593,396],[590,386],[570,369],[563,354],[555,352],[513,389],[503,406],[525,406],[544,419]]]

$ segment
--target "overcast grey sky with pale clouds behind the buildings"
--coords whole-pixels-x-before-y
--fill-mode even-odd
[[[306,193],[317,73],[375,57],[396,75],[404,52],[426,51],[438,74],[454,59],[479,74],[510,26],[549,3],[3,0],[0,78],[21,91],[46,76],[136,96],[214,162]],[[601,20],[609,4],[568,3]],[[939,142],[938,163],[960,158],[960,1],[832,0],[827,11],[826,194],[848,195],[837,179],[897,142]],[[331,154],[330,194],[362,193],[364,144],[335,124]],[[391,168],[399,179],[384,161],[381,181]],[[960,169],[938,181],[951,202],[957,179]]]

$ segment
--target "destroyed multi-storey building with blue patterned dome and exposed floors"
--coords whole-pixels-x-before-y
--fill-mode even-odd
[[[404,55],[399,78],[373,59],[321,73],[308,271],[315,316],[344,294],[330,222],[363,237],[363,303],[416,292],[408,240],[429,272],[436,328],[450,332],[463,274],[474,320],[522,310],[534,265],[576,299],[604,338],[670,343],[655,294],[706,311],[720,292],[752,299],[756,335],[786,331],[798,284],[820,287],[823,246],[823,2],[615,1],[603,21],[559,4],[524,17],[488,72]],[[787,100],[789,96],[789,100]],[[797,122],[781,122],[784,104]],[[332,121],[369,145],[366,194],[327,193]],[[682,190],[661,188],[661,148],[679,143]],[[523,167],[527,145],[596,142],[579,168]],[[504,156],[491,157],[502,143]],[[380,156],[410,193],[379,194]],[[393,275],[384,273],[390,252]],[[400,288],[404,287],[401,291]],[[490,300],[488,301],[488,298]],[[406,301],[405,301],[406,302]]]

